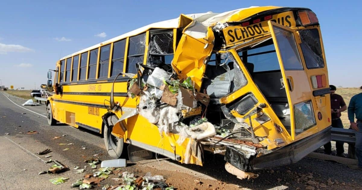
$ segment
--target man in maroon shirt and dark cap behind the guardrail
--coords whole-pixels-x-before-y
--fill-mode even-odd
[[[329,85],[331,88],[331,112],[332,112],[332,127],[343,128],[341,120],[341,112],[347,109],[346,103],[344,102],[342,96],[336,94],[336,86]],[[337,156],[346,157],[344,155],[343,142],[336,142]],[[324,153],[330,155],[332,153],[332,144],[331,142],[324,145]]]

